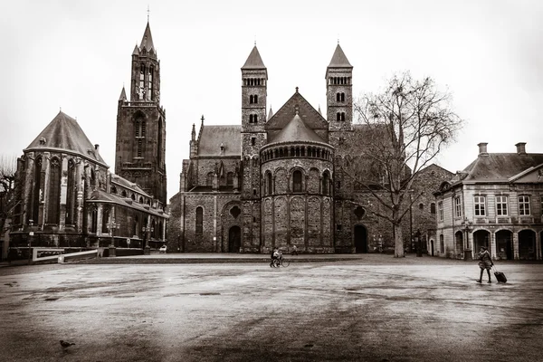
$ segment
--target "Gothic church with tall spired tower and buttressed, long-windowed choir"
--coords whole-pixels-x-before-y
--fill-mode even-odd
[[[118,248],[138,254],[166,239],[166,111],[149,25],[132,53],[131,100],[119,99],[116,174],[76,119],[62,111],[17,160],[14,257],[33,248]],[[147,247],[146,247],[147,246]],[[25,255],[24,255],[25,254]]]

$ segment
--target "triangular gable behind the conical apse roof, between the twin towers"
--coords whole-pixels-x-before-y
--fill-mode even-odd
[[[296,110],[304,124],[310,129],[321,129],[328,132],[329,125],[326,119],[322,117],[318,110],[315,110],[310,103],[305,100],[299,91],[296,91],[292,97],[283,104],[280,110],[266,122],[265,128],[271,137],[277,135],[279,130],[285,128],[291,119],[296,115]]]

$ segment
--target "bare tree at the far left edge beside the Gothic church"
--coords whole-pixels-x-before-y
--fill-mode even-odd
[[[16,157],[0,156],[0,235],[5,233],[6,221],[14,213],[16,170]]]

